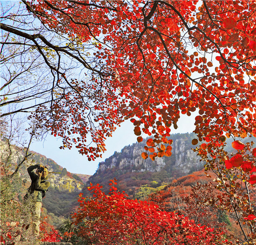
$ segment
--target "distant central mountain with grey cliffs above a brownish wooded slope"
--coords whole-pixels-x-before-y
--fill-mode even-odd
[[[99,163],[97,171],[88,179],[88,184],[103,185],[103,191],[108,191],[109,179],[117,179],[120,191],[125,191],[129,198],[137,197],[136,192],[142,185],[151,185],[155,181],[159,186],[170,183],[173,179],[188,175],[189,173],[201,170],[204,163],[200,161],[197,152],[191,148],[194,133],[172,134],[169,139],[173,139],[172,155],[170,157],[142,159],[141,153],[145,151],[146,140],[141,143],[134,143],[124,146],[121,152],[115,152],[111,157]],[[226,139],[227,151],[232,152],[233,139]],[[241,141],[254,141],[255,138],[241,139]],[[88,185],[87,184],[87,185]],[[105,187],[106,186],[106,187]],[[87,193],[84,188],[83,192]]]

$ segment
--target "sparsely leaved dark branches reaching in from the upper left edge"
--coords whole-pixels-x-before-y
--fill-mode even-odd
[[[48,27],[26,1],[1,2],[1,10],[0,116],[30,115],[30,133],[50,132],[61,148],[74,143],[89,160],[100,157],[122,121],[117,92],[91,54],[101,44]]]

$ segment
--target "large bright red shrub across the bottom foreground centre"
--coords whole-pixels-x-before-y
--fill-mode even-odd
[[[78,236],[90,244],[231,245],[222,229],[195,224],[188,217],[164,211],[150,201],[130,200],[110,180],[109,194],[91,185],[92,198],[80,194],[80,208],[73,214]]]

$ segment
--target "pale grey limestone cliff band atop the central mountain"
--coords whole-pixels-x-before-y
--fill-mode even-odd
[[[203,166],[200,157],[191,148],[192,134],[179,134],[172,144],[172,156],[142,159],[141,153],[145,152],[146,141],[135,143],[132,146],[125,146],[121,152],[115,152],[110,158],[99,163],[99,168],[95,174],[100,174],[107,169],[116,169],[125,172],[160,172],[164,167],[171,166],[173,170],[187,174],[191,170],[199,169]]]

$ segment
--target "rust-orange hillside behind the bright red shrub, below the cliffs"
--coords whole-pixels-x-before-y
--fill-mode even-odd
[[[169,212],[178,212],[202,225],[226,227],[229,234],[243,239],[243,233],[234,217],[216,208],[217,196],[222,191],[216,190],[215,185],[202,170],[174,179],[151,194],[147,194],[143,190],[145,187],[141,187],[140,193],[144,194],[144,199],[157,201]],[[250,191],[252,195],[256,195],[256,190]]]

